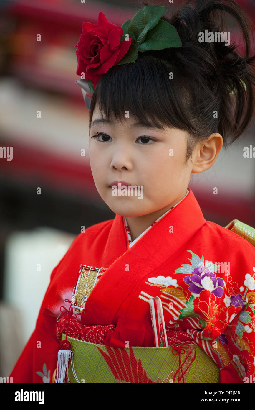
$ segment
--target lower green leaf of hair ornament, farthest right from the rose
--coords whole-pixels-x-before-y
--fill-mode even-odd
[[[138,51],[163,50],[168,47],[181,47],[181,39],[176,28],[168,21],[160,20],[146,35]]]

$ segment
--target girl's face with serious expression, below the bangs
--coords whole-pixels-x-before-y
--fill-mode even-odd
[[[184,165],[184,131],[151,128],[137,123],[132,116],[125,118],[125,114],[121,122],[107,122],[96,105],[89,137],[90,166],[97,191],[115,214],[151,214],[175,205],[185,196],[193,165],[191,161]],[[113,196],[114,181],[142,187],[136,196]]]

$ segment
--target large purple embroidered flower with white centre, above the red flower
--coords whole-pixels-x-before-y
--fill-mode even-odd
[[[210,272],[207,266],[200,266],[194,271],[185,276],[184,282],[189,285],[190,292],[200,294],[202,290],[206,289],[215,296],[221,297],[223,295],[223,279],[217,278],[214,272]]]

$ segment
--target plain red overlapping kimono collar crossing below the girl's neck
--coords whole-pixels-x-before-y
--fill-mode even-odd
[[[113,323],[115,313],[138,282],[169,260],[206,223],[199,203],[190,188],[189,191],[131,248],[123,217],[116,214],[106,244],[98,244],[104,249],[100,265],[107,269],[86,302],[92,324]]]

